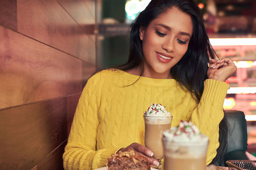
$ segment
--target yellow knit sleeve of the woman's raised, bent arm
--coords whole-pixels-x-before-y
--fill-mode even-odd
[[[197,108],[193,110],[191,122],[202,134],[209,138],[206,164],[216,157],[219,147],[219,124],[224,117],[223,103],[227,95],[228,84],[218,80],[207,79],[204,82],[204,92]]]

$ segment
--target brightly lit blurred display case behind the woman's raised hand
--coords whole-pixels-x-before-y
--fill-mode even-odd
[[[210,41],[220,58],[230,57],[237,66],[236,74],[226,81],[230,89],[223,107],[244,111],[248,149],[256,152],[256,36],[235,36],[214,35]]]

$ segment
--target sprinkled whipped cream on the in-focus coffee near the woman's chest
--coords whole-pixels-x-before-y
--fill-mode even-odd
[[[147,111],[144,112],[144,117],[171,117],[171,113],[168,112],[161,104],[152,103]]]

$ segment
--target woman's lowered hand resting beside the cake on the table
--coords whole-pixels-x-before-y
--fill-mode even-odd
[[[133,150],[134,152],[139,152],[139,153],[143,153],[142,155],[144,155],[147,159],[148,162],[150,164],[153,164],[154,166],[158,166],[159,162],[154,159],[153,156],[153,152],[148,149],[147,147],[140,145],[139,143],[132,143],[131,145],[127,146],[126,148],[122,148],[120,150],[118,150],[118,152],[122,151],[122,152],[129,152]]]

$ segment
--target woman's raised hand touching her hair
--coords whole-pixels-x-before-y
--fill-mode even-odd
[[[234,73],[236,73],[236,65],[229,57],[221,60],[210,60],[210,66],[207,71],[208,78],[226,81]]]

